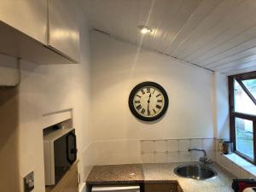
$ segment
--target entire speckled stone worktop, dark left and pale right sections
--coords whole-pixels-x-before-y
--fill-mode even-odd
[[[94,166],[86,183],[178,183],[183,192],[233,192],[231,183],[234,177],[217,164],[213,164],[211,167],[218,172],[218,176],[204,181],[178,177],[173,172],[177,166],[187,164],[196,163]]]

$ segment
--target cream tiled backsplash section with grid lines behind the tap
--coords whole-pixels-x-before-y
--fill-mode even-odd
[[[141,140],[143,163],[168,163],[197,161],[201,151],[189,152],[189,148],[203,148],[208,158],[215,160],[218,140],[214,138]]]

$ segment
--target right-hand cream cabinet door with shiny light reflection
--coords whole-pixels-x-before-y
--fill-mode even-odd
[[[79,24],[77,1],[48,0],[49,42],[48,46],[72,61],[79,61]]]

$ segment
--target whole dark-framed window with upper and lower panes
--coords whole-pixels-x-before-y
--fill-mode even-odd
[[[256,72],[230,76],[229,90],[235,153],[256,164]]]

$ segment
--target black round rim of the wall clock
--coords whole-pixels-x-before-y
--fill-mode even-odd
[[[165,98],[165,105],[164,105],[164,108],[162,109],[162,111],[157,114],[156,116],[154,117],[144,117],[143,115],[141,115],[140,113],[137,113],[137,110],[135,109],[134,105],[133,105],[133,99],[134,99],[134,96],[136,96],[137,94],[137,91],[142,89],[143,87],[146,87],[146,86],[151,86],[151,87],[155,87],[156,89],[160,90],[160,92],[163,94],[164,98]],[[168,99],[168,96],[167,96],[167,93],[166,93],[166,90],[160,85],[160,84],[157,84],[157,83],[154,83],[154,82],[151,82],[151,81],[146,81],[146,82],[143,82],[143,83],[140,83],[140,84],[137,84],[132,90],[131,90],[131,93],[130,93],[130,96],[129,96],[129,108],[131,110],[131,113],[137,117],[137,119],[141,119],[143,121],[154,121],[154,120],[157,120],[157,119],[160,119],[165,113],[166,113],[166,110],[168,108],[168,105],[169,105],[169,99]]]

